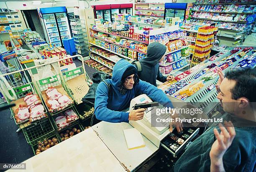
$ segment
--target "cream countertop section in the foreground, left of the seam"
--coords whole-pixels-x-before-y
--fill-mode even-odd
[[[125,172],[125,168],[92,128],[22,163],[26,163],[26,171],[34,172]]]

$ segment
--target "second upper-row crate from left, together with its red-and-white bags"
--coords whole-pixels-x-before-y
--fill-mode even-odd
[[[74,101],[65,90],[67,88],[60,74],[38,80],[36,84],[51,115],[62,112],[74,105]]]

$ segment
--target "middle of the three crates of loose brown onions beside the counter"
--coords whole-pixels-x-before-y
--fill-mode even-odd
[[[74,135],[77,135],[78,133],[82,132],[84,129],[80,123],[73,125],[72,127],[68,127],[65,130],[62,130],[59,132],[59,139],[63,142],[70,137],[73,137]]]

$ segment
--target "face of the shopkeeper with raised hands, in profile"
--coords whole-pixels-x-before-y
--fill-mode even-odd
[[[220,104],[223,107],[223,110],[228,113],[234,114],[238,108],[238,100],[232,98],[231,90],[236,85],[236,81],[228,80],[224,78],[220,84],[220,92],[218,93],[217,98],[220,100]]]

